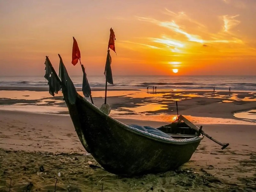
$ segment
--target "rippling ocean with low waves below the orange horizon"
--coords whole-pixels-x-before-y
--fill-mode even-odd
[[[105,76],[87,76],[91,87],[105,87]],[[71,76],[77,88],[82,76]],[[184,89],[256,91],[256,76],[113,76],[114,85],[108,87],[134,89]],[[0,76],[0,86],[47,87],[43,76]]]

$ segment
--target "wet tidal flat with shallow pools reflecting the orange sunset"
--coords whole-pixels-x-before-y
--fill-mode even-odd
[[[40,90],[39,88],[38,90]],[[235,113],[256,109],[256,93],[251,92],[212,92],[205,91],[158,91],[112,89],[107,102],[111,106],[113,118],[145,119],[149,121],[170,122],[177,114],[191,116],[196,122],[253,124],[253,119],[234,116]],[[47,91],[0,90],[0,110],[27,111],[49,114],[68,114],[62,92],[52,97]],[[79,92],[81,95],[82,92]],[[92,92],[94,105],[100,108],[105,91]],[[89,102],[90,100],[87,99]],[[26,107],[24,107],[26,106]],[[191,119],[190,118],[190,119]],[[212,118],[212,119],[210,119]],[[224,121],[224,119],[226,119]],[[247,120],[248,119],[248,120]],[[231,122],[230,122],[231,120]],[[251,121],[250,121],[251,120]],[[211,122],[212,121],[212,122]],[[242,123],[243,122],[243,123]]]

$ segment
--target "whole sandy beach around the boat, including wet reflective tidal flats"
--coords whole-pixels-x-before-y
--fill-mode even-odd
[[[98,107],[102,92],[92,92]],[[106,172],[84,150],[61,93],[12,87],[1,88],[0,98],[0,191],[256,190],[256,123],[233,115],[256,108],[255,92],[109,90],[110,115],[124,124],[172,122],[178,100],[179,114],[230,144],[221,150],[204,138],[179,169],[135,178]]]

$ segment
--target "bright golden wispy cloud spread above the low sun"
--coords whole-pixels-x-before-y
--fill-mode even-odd
[[[185,12],[176,13],[165,9],[164,14],[171,16],[169,21],[150,17],[136,16],[136,18],[167,29],[162,31],[164,35],[141,39],[142,44],[147,44],[145,40],[148,39],[148,44],[160,47],[161,53],[156,52],[156,54],[162,54],[165,63],[174,56],[181,57],[182,60],[208,60],[209,58],[213,60],[213,58],[232,58],[253,53],[250,46],[236,35],[238,31],[235,29],[240,23],[238,14],[216,16],[219,31],[215,33],[210,31],[211,28],[191,19]]]

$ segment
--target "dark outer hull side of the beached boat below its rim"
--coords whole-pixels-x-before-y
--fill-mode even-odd
[[[77,95],[69,114],[84,148],[108,172],[121,175],[159,173],[188,162],[201,139],[170,143],[127,129]]]

